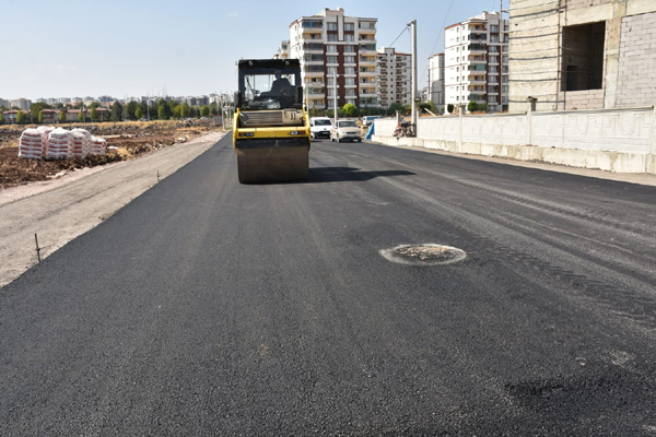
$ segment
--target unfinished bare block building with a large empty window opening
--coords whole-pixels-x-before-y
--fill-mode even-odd
[[[656,1],[512,0],[509,111],[656,104]]]

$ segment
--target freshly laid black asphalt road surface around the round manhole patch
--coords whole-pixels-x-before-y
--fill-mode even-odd
[[[223,139],[0,288],[0,435],[656,435],[655,188],[311,166],[242,186]]]

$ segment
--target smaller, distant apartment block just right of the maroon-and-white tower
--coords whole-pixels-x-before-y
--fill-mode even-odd
[[[378,49],[378,102],[387,108],[393,103],[412,103],[412,55],[394,47]]]

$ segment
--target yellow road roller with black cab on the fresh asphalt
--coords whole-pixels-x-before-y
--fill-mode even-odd
[[[242,184],[307,180],[309,119],[297,59],[237,61],[233,144]]]

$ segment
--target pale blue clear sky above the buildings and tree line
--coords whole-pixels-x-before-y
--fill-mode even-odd
[[[271,58],[294,20],[339,7],[378,19],[377,48],[408,54],[417,20],[422,88],[444,26],[500,0],[0,0],[0,98],[231,94],[235,61]]]

